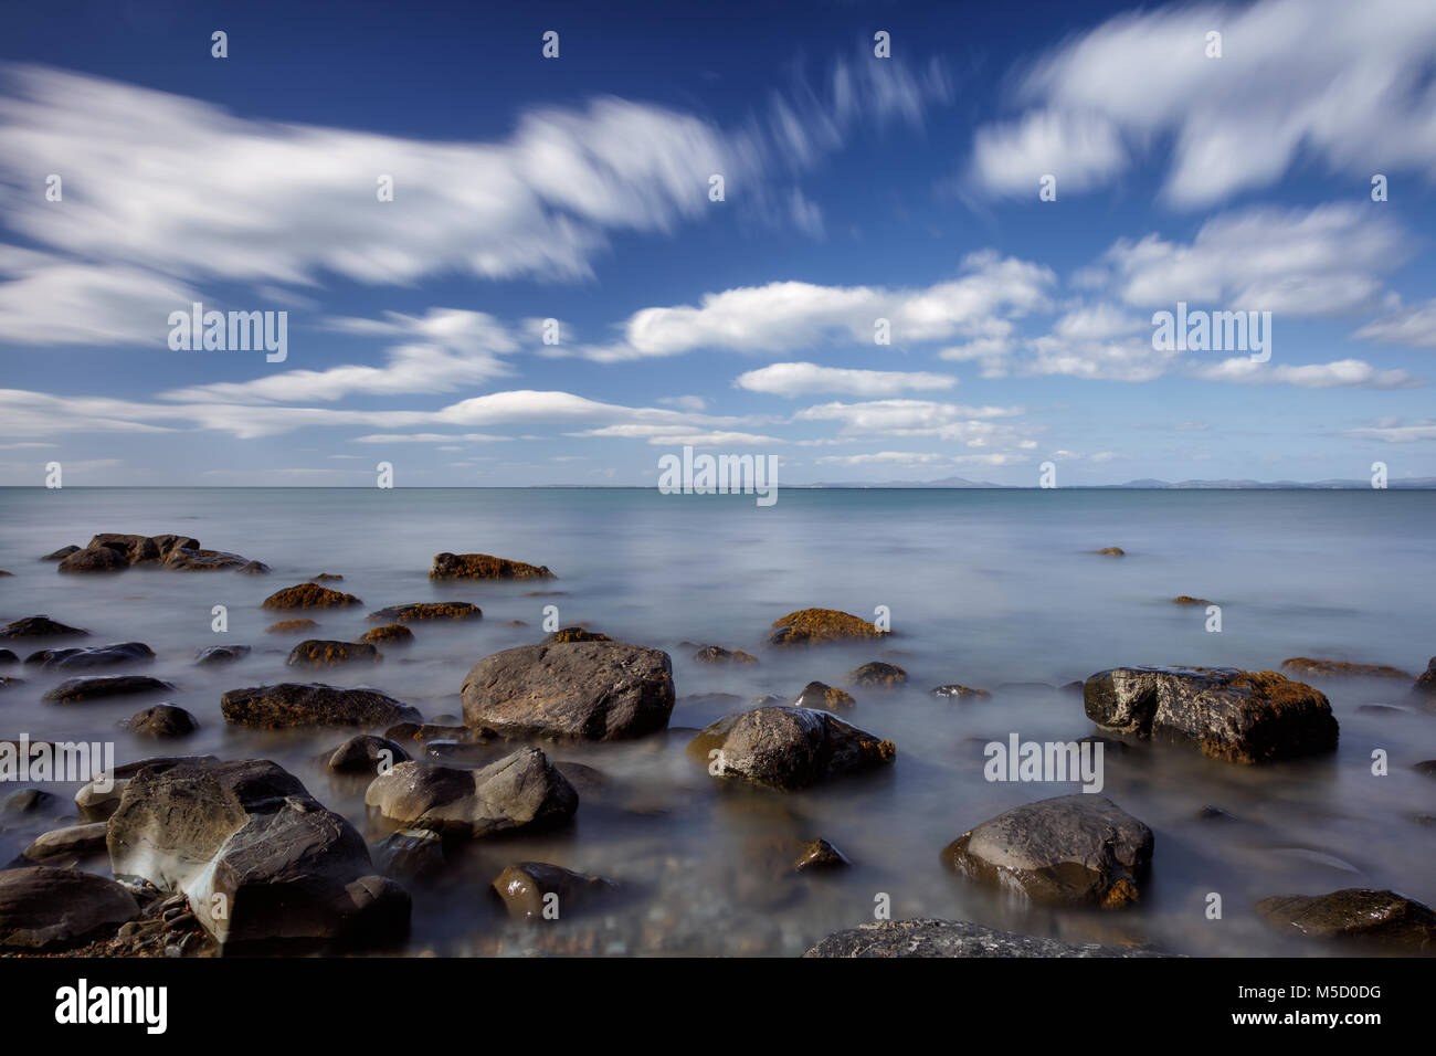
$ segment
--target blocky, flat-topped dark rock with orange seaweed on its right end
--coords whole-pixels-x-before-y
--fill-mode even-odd
[[[1104,730],[1195,743],[1234,763],[1331,751],[1338,736],[1327,698],[1275,671],[1116,668],[1087,680],[1083,705]]]

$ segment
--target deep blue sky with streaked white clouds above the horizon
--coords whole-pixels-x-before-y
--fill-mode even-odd
[[[1436,476],[1436,3],[314,7],[0,14],[0,484]]]

